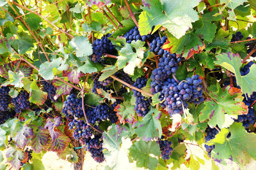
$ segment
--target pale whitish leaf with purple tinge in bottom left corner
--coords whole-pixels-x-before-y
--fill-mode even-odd
[[[6,150],[6,158],[7,161],[16,169],[19,169],[21,166],[21,161],[26,159],[26,155],[22,150],[19,150],[18,148],[10,147]]]

